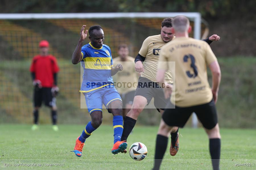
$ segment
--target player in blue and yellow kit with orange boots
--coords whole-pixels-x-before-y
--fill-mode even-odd
[[[127,143],[121,141],[123,133],[122,100],[113,85],[112,76],[122,71],[121,64],[113,67],[111,50],[103,44],[104,32],[100,25],[90,27],[84,32],[86,25],[80,31],[80,39],[72,55],[72,63],[81,62],[84,69],[83,81],[80,92],[85,95],[88,112],[91,121],[88,122],[82,134],[77,138],[75,148],[76,156],[82,156],[82,149],[86,138],[102,123],[102,104],[108,112],[113,114],[114,146],[112,153],[125,152]],[[89,32],[90,43],[82,46],[84,39]]]

